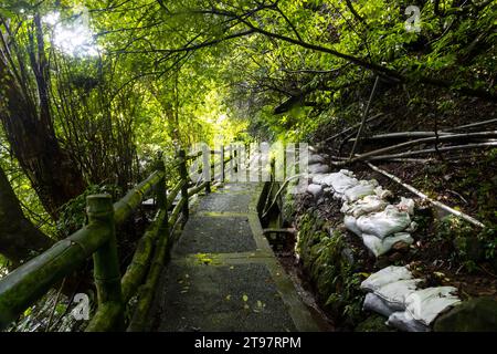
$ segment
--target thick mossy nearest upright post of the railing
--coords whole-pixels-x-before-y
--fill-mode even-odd
[[[109,195],[86,197],[86,214],[89,225],[103,225],[109,229],[109,238],[94,254],[94,279],[98,308],[114,303],[119,308],[113,327],[124,329],[123,291],[120,288],[119,259],[117,256],[116,226],[113,200]]]

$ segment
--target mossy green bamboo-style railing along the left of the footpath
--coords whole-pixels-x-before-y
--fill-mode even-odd
[[[219,152],[209,150],[210,155]],[[97,310],[86,331],[141,331],[152,303],[155,289],[173,243],[178,221],[189,217],[189,198],[204,189],[210,191],[211,179],[189,189],[188,160],[203,155],[203,164],[210,164],[204,150],[187,155],[183,149],[177,156],[180,179],[166,192],[166,168],[158,162],[147,179],[129,190],[121,199],[112,202],[109,195],[91,195],[86,198],[88,222],[52,248],[17,268],[0,280],[0,330],[59,284],[65,277],[81,268],[93,257],[94,282],[97,290]],[[224,160],[224,148],[221,159]],[[219,166],[210,164],[210,170]],[[211,174],[210,176],[213,176]],[[224,167],[222,168],[224,178]],[[144,197],[155,190],[158,211],[156,218],[137,243],[134,257],[120,275],[117,253],[116,227],[126,221],[140,206]],[[180,196],[175,208],[171,207]],[[125,323],[125,309],[134,296],[135,311]]]

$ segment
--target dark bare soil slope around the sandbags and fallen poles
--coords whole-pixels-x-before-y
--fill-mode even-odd
[[[371,123],[363,136],[403,131],[450,129],[454,126],[495,118],[497,112],[495,103],[462,97],[453,101],[452,97],[441,96],[436,92],[425,92],[422,110],[406,106],[405,97],[401,95],[389,95],[388,98],[388,103],[382,103],[388,107],[388,114],[378,122]],[[444,100],[450,101],[454,106],[450,112],[438,113],[436,106]],[[340,123],[338,119],[328,128],[319,129],[315,140],[324,140],[327,136],[331,136],[347,126],[349,125],[343,124],[343,121]],[[494,125],[477,127],[473,131],[478,129],[497,129],[497,125],[494,123]],[[468,129],[464,132],[466,133]],[[353,134],[343,135],[329,142],[325,146],[325,152],[330,156],[349,156],[351,144],[343,142],[343,137],[350,138],[353,137]],[[387,142],[376,140],[373,144],[364,143],[360,146],[359,152],[392,144],[395,142],[390,139]],[[420,148],[429,147],[432,146],[420,146]],[[392,201],[399,200],[401,196],[413,198],[416,202],[416,222],[421,220],[420,228],[412,235],[415,240],[414,244],[394,247],[379,259],[374,259],[369,253],[357,236],[345,230],[348,243],[355,249],[363,250],[360,252],[360,257],[366,261],[362,271],[369,273],[389,264],[411,264],[415,275],[425,280],[425,287],[453,285],[458,289],[462,299],[484,295],[497,299],[497,261],[495,260],[497,251],[493,258],[484,254],[488,252],[488,249],[482,250],[493,239],[496,242],[497,237],[497,149],[484,148],[457,154],[432,154],[422,156],[422,159],[424,162],[374,162],[373,165],[395,175],[429,197],[484,222],[488,231],[488,237],[484,241],[479,240],[480,230],[476,228],[469,229],[469,232],[466,231],[463,235],[469,242],[475,240],[478,243],[479,254],[461,254],[456,246],[456,239],[461,236],[458,230],[450,229],[445,230],[445,235],[441,235],[440,220],[447,216],[446,212],[434,210],[398,183],[372,170],[363,163],[356,163],[341,168],[352,170],[359,179],[377,179],[384,189],[394,194],[395,200]],[[297,198],[295,202],[297,219],[305,212],[315,211],[321,219],[327,220],[331,228],[343,230],[343,215],[339,211],[341,202],[324,199],[316,204],[314,197],[307,194]],[[295,259],[295,240],[287,239],[287,242],[279,251],[276,250],[276,254],[287,271],[297,274],[306,289],[316,294],[313,284],[306,282],[307,274]],[[316,295],[314,296],[316,298]],[[316,303],[319,301],[317,300]],[[319,306],[319,311],[325,313],[322,306]],[[332,321],[330,320],[330,322]]]

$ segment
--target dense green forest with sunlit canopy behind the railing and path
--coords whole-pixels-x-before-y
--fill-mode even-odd
[[[159,150],[341,152],[329,138],[361,121],[377,79],[369,135],[493,119],[496,30],[491,0],[1,0],[0,269],[80,228],[85,195],[121,196]],[[495,226],[491,137],[405,176]]]

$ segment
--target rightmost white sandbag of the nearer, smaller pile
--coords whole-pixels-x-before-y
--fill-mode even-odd
[[[461,303],[455,295],[457,289],[454,287],[437,287],[417,290],[405,299],[405,311],[414,320],[430,325],[438,314]]]

